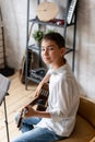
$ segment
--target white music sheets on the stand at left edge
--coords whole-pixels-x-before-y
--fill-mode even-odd
[[[0,74],[0,105],[9,91],[11,80]]]

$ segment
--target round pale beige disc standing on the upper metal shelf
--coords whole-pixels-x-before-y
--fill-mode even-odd
[[[37,17],[40,21],[48,22],[55,19],[58,14],[58,5],[54,2],[41,2],[37,8]]]

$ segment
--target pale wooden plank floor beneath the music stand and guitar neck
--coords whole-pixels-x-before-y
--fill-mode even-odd
[[[17,130],[14,121],[15,113],[32,100],[37,85],[31,83],[26,91],[25,85],[20,82],[17,72],[14,75],[10,76],[10,95],[5,97],[5,102],[8,111],[9,137],[11,141],[13,138],[20,134],[20,131]],[[0,106],[0,142],[8,142],[3,103]]]

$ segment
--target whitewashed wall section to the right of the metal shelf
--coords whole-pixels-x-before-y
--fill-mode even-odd
[[[95,99],[95,0],[79,1],[76,76]]]

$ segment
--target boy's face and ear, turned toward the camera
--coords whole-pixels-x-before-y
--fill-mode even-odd
[[[63,60],[64,51],[66,49],[59,48],[54,40],[44,39],[41,42],[41,58],[46,64],[58,66],[60,60]]]

